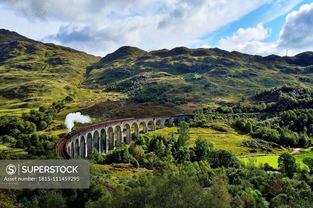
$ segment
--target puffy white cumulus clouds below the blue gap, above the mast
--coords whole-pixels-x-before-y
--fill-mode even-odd
[[[222,38],[217,47],[227,51],[240,51],[248,54],[277,54],[294,56],[304,51],[313,51],[313,3],[302,5],[299,11],[293,11],[286,21],[276,42],[262,42],[270,36],[271,29],[264,28],[262,23],[257,27],[240,28],[231,37]]]

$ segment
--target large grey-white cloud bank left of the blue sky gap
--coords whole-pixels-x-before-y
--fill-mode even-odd
[[[124,45],[146,51],[191,46],[195,40],[275,0],[139,0],[135,5],[129,0],[1,2],[7,11],[15,12],[17,18],[23,17],[27,21],[18,21],[17,26],[12,21],[16,28],[32,24],[27,34],[29,38],[89,52],[92,44],[98,41],[99,45],[92,53],[104,56]],[[53,4],[47,7],[47,2]],[[4,17],[0,14],[1,18]],[[184,32],[186,25],[191,25],[191,33]],[[41,28],[53,32],[47,34],[40,31]]]

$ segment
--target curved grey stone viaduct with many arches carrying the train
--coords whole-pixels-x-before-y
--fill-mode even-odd
[[[180,124],[182,120],[189,122],[194,115],[179,115],[179,116],[163,116],[152,117],[144,119],[134,119],[131,121],[124,121],[118,123],[110,123],[95,128],[89,128],[78,134],[73,135],[66,142],[66,151],[73,158],[87,156],[93,153],[96,148],[101,154],[114,149],[116,143],[125,142],[131,143],[131,132],[135,132],[135,137],[139,137],[139,128],[143,128],[143,133],[149,130],[155,131],[156,126],[164,128],[164,126],[171,127],[173,123]],[[126,137],[124,137],[124,129]]]

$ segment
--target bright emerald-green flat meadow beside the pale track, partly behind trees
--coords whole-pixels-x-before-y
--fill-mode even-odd
[[[313,156],[313,149],[305,149],[304,153],[295,154],[294,157],[297,161],[297,163],[300,163],[300,165],[303,165],[302,159],[307,156]],[[263,164],[265,162],[269,163],[270,166],[273,166],[274,168],[278,168],[278,157],[279,155],[266,155],[266,156],[257,156],[257,164],[262,162]],[[239,160],[248,162],[248,157],[239,158]]]

